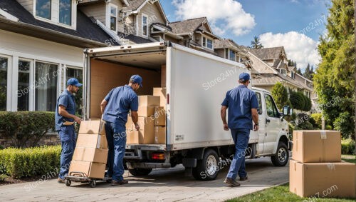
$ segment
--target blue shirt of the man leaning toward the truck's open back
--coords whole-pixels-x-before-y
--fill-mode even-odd
[[[125,127],[127,122],[127,113],[138,110],[138,97],[131,86],[125,85],[112,89],[105,101],[108,104],[105,107],[103,120],[116,123]]]

